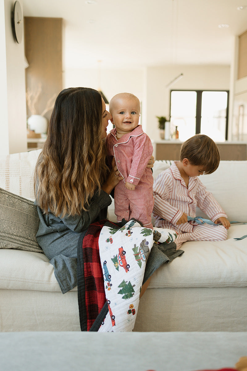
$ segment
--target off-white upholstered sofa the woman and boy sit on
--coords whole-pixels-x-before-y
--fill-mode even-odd
[[[0,156],[0,187],[33,199],[39,153]],[[154,178],[168,166],[156,161]],[[221,161],[200,179],[230,221],[247,221],[247,161]],[[134,331],[247,331],[247,238],[234,240],[246,234],[247,224],[238,224],[226,241],[184,243],[183,255],[153,274]],[[1,238],[0,219],[0,245]],[[61,293],[44,254],[0,249],[0,331],[80,331],[77,289]]]

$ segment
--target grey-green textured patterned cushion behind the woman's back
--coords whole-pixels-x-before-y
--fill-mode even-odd
[[[43,252],[36,240],[37,207],[26,198],[0,188],[0,248]]]

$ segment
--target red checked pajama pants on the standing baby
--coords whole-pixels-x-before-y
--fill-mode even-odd
[[[114,190],[114,204],[117,221],[124,218],[126,221],[134,218],[144,227],[153,229],[151,214],[154,206],[153,186],[144,181],[139,181],[136,188],[131,191],[125,187],[123,180],[116,185]]]

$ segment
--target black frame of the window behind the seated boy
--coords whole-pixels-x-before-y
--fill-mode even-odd
[[[228,118],[229,118],[229,90],[221,89],[171,89],[170,90],[170,119],[171,119],[171,92],[196,92],[196,132],[195,134],[200,134],[201,132],[201,100],[203,92],[226,92],[227,93],[227,107],[226,107],[226,132],[225,139],[228,139]]]

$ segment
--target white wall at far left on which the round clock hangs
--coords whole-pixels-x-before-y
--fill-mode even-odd
[[[22,7],[21,0],[20,4]],[[20,44],[14,40],[11,27],[13,5],[12,0],[0,2],[1,154],[27,150],[24,35]]]

